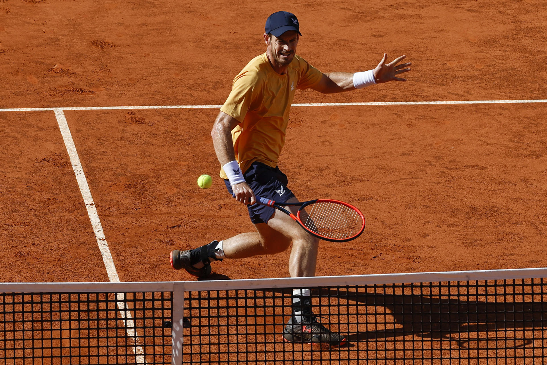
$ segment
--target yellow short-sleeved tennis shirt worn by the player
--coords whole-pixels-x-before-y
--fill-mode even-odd
[[[277,166],[295,90],[310,88],[322,77],[321,71],[297,55],[283,75],[274,71],[265,53],[241,70],[220,108],[239,121],[232,140],[241,171],[247,171],[254,161]],[[220,177],[228,178],[222,168]]]

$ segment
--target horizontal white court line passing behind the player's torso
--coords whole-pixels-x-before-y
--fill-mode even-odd
[[[462,101],[387,101],[363,103],[303,103],[293,107],[343,107],[343,106],[385,106],[385,105],[453,105],[453,104],[514,104],[547,103],[547,99],[532,100],[462,100]],[[113,107],[66,107],[66,108],[8,108],[0,112],[37,112],[56,110],[117,110],[117,109],[218,109],[222,105],[150,105],[150,106],[113,106]]]

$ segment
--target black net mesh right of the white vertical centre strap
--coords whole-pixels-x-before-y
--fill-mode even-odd
[[[347,343],[283,337],[292,289],[187,292],[185,364],[543,364],[547,279],[312,288]]]

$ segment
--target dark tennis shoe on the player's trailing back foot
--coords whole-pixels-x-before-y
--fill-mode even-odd
[[[222,261],[222,259],[217,259],[214,255],[213,247],[216,247],[217,244],[218,241],[212,241],[210,244],[194,248],[194,250],[171,251],[169,254],[171,267],[175,270],[184,269],[188,274],[197,277],[209,276],[212,271],[209,259],[213,258],[213,260]],[[194,265],[200,261],[203,263],[203,267],[200,269],[195,268]]]

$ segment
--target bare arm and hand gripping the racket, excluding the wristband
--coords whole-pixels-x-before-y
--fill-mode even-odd
[[[232,140],[232,129],[239,122],[230,115],[219,112],[217,119],[214,121],[211,137],[213,137],[214,152],[217,154],[218,161],[221,166],[228,164],[230,161],[235,161],[234,141]],[[232,185],[232,190],[237,201],[243,204],[254,204],[256,198],[253,190],[242,182]]]

